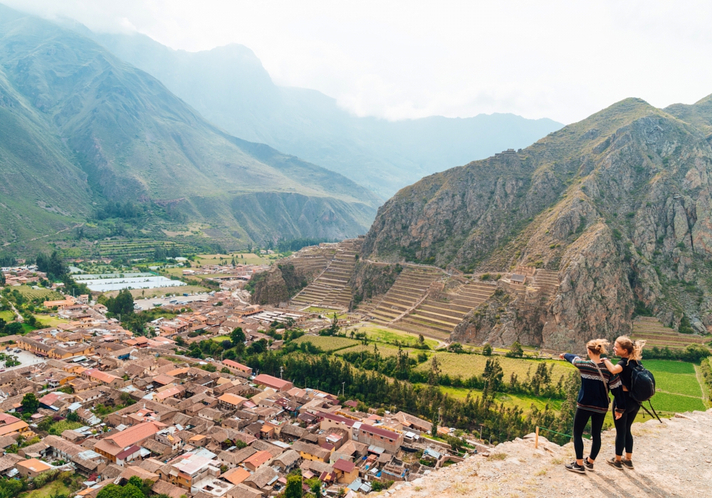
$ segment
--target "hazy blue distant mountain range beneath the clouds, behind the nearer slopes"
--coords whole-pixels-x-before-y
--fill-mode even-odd
[[[275,85],[247,47],[175,51],[144,35],[91,33],[230,133],[338,171],[380,196],[473,158],[525,147],[562,125],[515,115],[427,117],[390,122],[356,117],[323,93]]]

